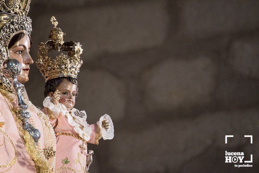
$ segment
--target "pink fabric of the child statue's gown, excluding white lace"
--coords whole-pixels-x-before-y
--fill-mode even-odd
[[[43,108],[42,111],[47,114],[47,108]],[[62,131],[64,133],[78,135],[78,133],[74,130],[74,127],[68,123],[68,120],[61,115],[61,113],[57,119],[50,119],[50,121],[55,133],[57,131]],[[88,124],[88,127],[92,129],[92,133],[90,135],[90,140],[87,142],[95,144],[95,125]],[[68,173],[73,171],[84,173],[86,166],[87,146],[85,146],[86,149],[83,151],[83,154],[81,154],[82,150],[80,145],[82,145],[83,142],[75,137],[59,135],[56,137],[56,142],[56,171],[58,173],[64,172],[64,170]],[[66,158],[69,161],[67,164],[64,163]]]

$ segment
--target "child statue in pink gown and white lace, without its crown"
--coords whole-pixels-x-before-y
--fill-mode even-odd
[[[109,115],[96,124],[87,124],[85,111],[74,108],[78,85],[76,78],[58,77],[46,82],[43,112],[49,115],[56,133],[56,171],[84,171],[87,143],[112,139],[113,123]],[[67,169],[69,168],[69,169]]]

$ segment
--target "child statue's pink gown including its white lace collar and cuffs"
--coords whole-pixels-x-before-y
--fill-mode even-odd
[[[98,140],[113,138],[113,123],[110,121],[111,128],[105,131],[101,127],[104,115],[96,124],[87,124],[86,113],[78,111],[75,108],[67,111],[63,104],[55,106],[51,103],[51,97],[46,97],[43,101],[43,112],[57,116],[57,119],[51,119],[51,125],[56,132],[73,134],[83,138],[87,143],[98,144]],[[47,111],[47,108],[49,111]],[[109,118],[109,116],[108,116]],[[83,141],[68,135],[56,136],[56,171],[57,172],[84,172],[86,166],[87,146],[82,148]],[[80,147],[81,146],[81,147]]]

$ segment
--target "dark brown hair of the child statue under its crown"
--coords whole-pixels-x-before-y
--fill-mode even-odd
[[[44,96],[47,97],[50,92],[55,92],[56,88],[60,85],[61,82],[63,82],[64,79],[67,79],[72,84],[76,85],[76,96],[78,95],[78,86],[77,86],[77,80],[76,78],[72,77],[60,77],[60,78],[54,78],[50,79],[45,84],[45,91]]]

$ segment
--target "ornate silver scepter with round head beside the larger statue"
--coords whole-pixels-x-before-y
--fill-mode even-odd
[[[27,130],[36,145],[40,138],[40,131],[29,123],[30,113],[27,112],[28,105],[23,101],[22,92],[24,85],[18,82],[17,76],[21,73],[21,65],[16,59],[7,59],[3,62],[3,74],[12,82],[11,89],[16,95],[16,108],[18,108],[19,119],[23,122],[23,129]]]

